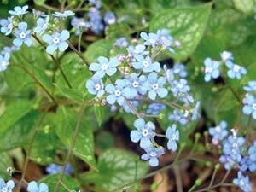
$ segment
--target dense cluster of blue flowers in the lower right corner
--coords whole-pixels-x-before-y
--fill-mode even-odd
[[[256,141],[248,147],[246,139],[239,137],[235,129],[229,132],[227,126],[225,121],[221,121],[219,125],[209,128],[212,143],[222,148],[223,154],[219,161],[224,164],[225,169],[238,169],[237,177],[233,183],[244,192],[250,192],[252,186],[249,177],[245,177],[242,172],[256,172]]]

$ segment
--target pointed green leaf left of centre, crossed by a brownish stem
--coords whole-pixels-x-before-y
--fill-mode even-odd
[[[58,120],[56,125],[56,133],[60,137],[61,142],[66,144],[67,147],[71,146],[73,141],[74,129],[78,121],[78,113],[73,110],[60,107],[57,111]],[[92,134],[92,126],[90,119],[85,118],[89,115],[88,110],[85,109],[84,118],[79,128],[79,135],[77,137],[73,154],[84,160],[91,167],[96,169],[96,160],[94,156],[94,141]]]

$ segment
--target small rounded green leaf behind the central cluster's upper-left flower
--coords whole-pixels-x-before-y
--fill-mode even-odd
[[[87,61],[93,62],[96,61],[99,56],[109,57],[111,49],[112,43],[107,40],[101,39],[93,44],[90,44],[84,55]]]

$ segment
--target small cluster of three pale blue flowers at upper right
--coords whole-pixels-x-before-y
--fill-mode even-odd
[[[211,79],[217,79],[221,75],[221,67],[225,66],[227,69],[227,75],[230,79],[241,79],[241,76],[247,73],[245,67],[234,63],[234,57],[232,53],[224,51],[220,54],[221,61],[215,61],[207,57],[204,61],[205,81],[209,82]]]

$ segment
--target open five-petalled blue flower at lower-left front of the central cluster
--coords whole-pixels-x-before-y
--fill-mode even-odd
[[[106,89],[108,93],[107,102],[113,105],[114,102],[118,102],[120,106],[125,103],[125,97],[129,98],[131,96],[131,90],[125,87],[125,80],[116,80],[115,85],[107,84]]]

